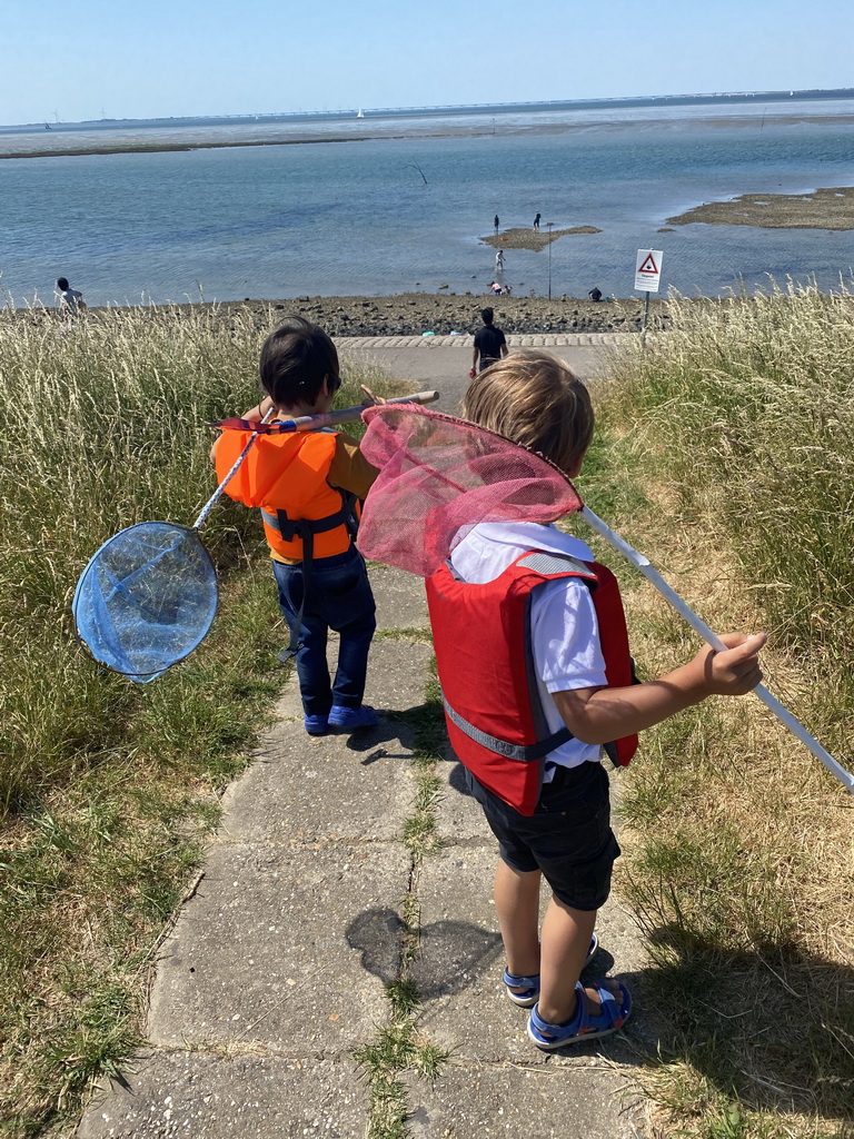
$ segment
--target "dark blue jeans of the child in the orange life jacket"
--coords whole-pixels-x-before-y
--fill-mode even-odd
[[[302,564],[273,562],[279,605],[294,631],[303,604]],[[358,708],[364,695],[368,650],[377,628],[376,605],[364,560],[352,546],[346,554],[314,558],[305,597],[296,671],[306,715],[327,715],[332,704]],[[329,630],[340,637],[335,682],[329,678],[326,645]]]

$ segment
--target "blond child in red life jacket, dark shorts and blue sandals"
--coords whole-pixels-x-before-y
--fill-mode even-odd
[[[462,416],[570,478],[593,435],[586,388],[544,351],[482,372]],[[619,855],[606,753],[627,763],[639,731],[713,694],[750,691],[765,634],[729,633],[725,652],[706,645],[666,675],[632,683],[616,580],[553,524],[476,525],[427,579],[427,598],[449,732],[499,842],[507,994],[531,1009],[528,1035],[544,1051],[605,1036],[632,1007],[624,985],[580,981]],[[528,753],[540,759],[520,763]],[[551,900],[539,927],[542,878]]]

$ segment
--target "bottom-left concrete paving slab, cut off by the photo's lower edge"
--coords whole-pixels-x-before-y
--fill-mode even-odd
[[[97,1093],[79,1139],[353,1139],[368,1090],[351,1060],[141,1055],[128,1088]]]

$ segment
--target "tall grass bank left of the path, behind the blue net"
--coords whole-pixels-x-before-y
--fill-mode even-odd
[[[217,792],[284,672],[257,518],[203,531],[224,595],[196,654],[150,686],[76,644],[74,584],[134,522],[191,524],[215,484],[211,420],[257,399],[278,322],[186,306],[0,312],[0,1131],[43,1133],[132,1046],[153,947]],[[373,375],[344,368],[339,405]]]

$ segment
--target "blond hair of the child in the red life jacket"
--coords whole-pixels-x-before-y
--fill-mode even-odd
[[[593,407],[572,369],[539,349],[512,352],[471,380],[462,400],[471,423],[522,443],[569,470],[593,439]]]

